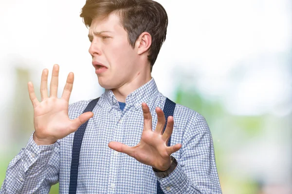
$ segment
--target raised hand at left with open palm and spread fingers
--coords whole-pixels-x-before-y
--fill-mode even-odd
[[[58,139],[64,138],[76,131],[80,125],[89,120],[92,112],[83,113],[71,120],[68,116],[69,98],[73,88],[74,74],[69,73],[61,98],[57,98],[59,65],[54,65],[50,84],[50,97],[48,97],[48,69],[41,75],[40,95],[37,100],[34,85],[28,82],[29,97],[34,107],[34,141],[37,145],[51,145]]]

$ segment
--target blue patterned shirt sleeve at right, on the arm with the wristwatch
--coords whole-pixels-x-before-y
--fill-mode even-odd
[[[164,194],[222,194],[211,132],[199,113],[185,129],[177,161],[169,176],[157,177]]]

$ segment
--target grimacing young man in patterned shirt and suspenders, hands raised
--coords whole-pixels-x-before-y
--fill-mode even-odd
[[[0,193],[49,193],[59,182],[62,194],[221,194],[205,119],[173,106],[151,77],[166,37],[164,8],[152,0],[87,0],[80,16],[106,91],[69,105],[73,73],[57,98],[58,65],[49,97],[42,72],[41,102],[29,82],[35,131],[9,163]]]

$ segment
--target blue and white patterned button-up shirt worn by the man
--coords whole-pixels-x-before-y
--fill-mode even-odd
[[[152,78],[126,98],[120,109],[111,90],[101,95],[89,120],[80,150],[77,194],[156,194],[157,180],[165,194],[221,194],[210,129],[204,117],[176,104],[171,146],[182,144],[172,156],[178,161],[167,177],[157,177],[151,166],[109,148],[111,141],[136,146],[144,125],[142,102],[156,128],[156,107],[164,108],[164,97]],[[91,100],[69,105],[69,118],[83,113]],[[59,193],[69,193],[74,133],[53,145],[28,144],[9,163],[0,194],[48,194],[59,182]]]

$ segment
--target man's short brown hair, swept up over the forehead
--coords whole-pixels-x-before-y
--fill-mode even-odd
[[[148,60],[150,71],[166,38],[168,17],[164,7],[153,0],[86,0],[80,17],[87,27],[95,17],[107,17],[112,12],[120,16],[121,24],[128,32],[129,44],[135,42],[143,32],[152,38]]]

